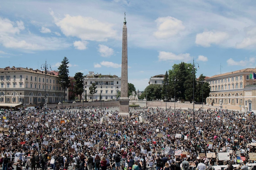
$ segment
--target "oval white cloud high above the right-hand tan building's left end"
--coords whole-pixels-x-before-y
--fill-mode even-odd
[[[210,47],[211,44],[220,44],[227,38],[229,35],[225,32],[206,31],[196,35],[195,43],[203,47]]]

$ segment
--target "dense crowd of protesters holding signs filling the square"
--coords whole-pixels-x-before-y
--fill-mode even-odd
[[[221,109],[111,108],[6,111],[0,164],[32,170],[187,170],[254,163],[255,116]],[[45,119],[44,119],[45,118]],[[209,156],[209,153],[211,156]],[[220,153],[228,153],[223,159]],[[251,157],[249,157],[251,156]],[[233,167],[233,168],[232,168]]]

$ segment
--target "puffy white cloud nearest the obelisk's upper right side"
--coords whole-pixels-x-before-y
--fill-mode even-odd
[[[182,21],[174,17],[159,17],[156,22],[158,30],[154,32],[154,36],[159,39],[170,38],[185,29]]]

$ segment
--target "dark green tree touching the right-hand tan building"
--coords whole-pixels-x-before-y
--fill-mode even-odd
[[[206,98],[209,96],[211,89],[209,87],[209,83],[204,81],[205,80],[205,76],[203,74],[201,74],[199,76],[199,79],[197,81],[197,85],[196,85],[196,96],[197,102],[206,102]],[[203,99],[202,99],[203,98]]]

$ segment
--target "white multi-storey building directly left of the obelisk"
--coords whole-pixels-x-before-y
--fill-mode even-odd
[[[95,94],[91,95],[89,88],[95,83]],[[101,75],[89,72],[84,76],[84,93],[82,99],[88,101],[100,100],[117,100],[117,94],[121,89],[121,77],[116,75]],[[120,93],[120,92],[119,92]]]

